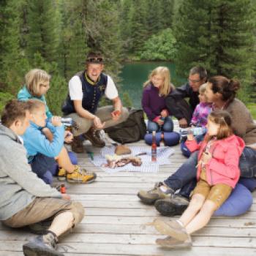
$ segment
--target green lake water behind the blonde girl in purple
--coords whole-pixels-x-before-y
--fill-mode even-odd
[[[175,64],[170,62],[132,62],[125,63],[121,71],[121,97],[127,91],[132,100],[133,107],[141,108],[141,96],[143,83],[148,80],[149,73],[156,67],[164,66],[170,69],[170,77],[173,83],[180,85],[182,80],[175,75]],[[180,83],[178,83],[180,82]]]

